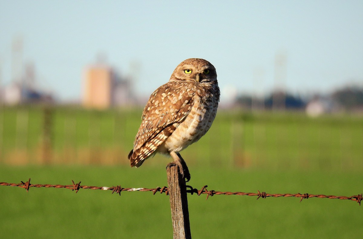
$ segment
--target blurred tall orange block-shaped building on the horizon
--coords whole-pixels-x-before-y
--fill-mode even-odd
[[[112,104],[113,73],[107,66],[86,69],[82,104],[87,108],[106,109]]]

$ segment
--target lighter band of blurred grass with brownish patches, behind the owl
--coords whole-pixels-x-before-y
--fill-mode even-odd
[[[127,165],[141,112],[51,108],[45,126],[43,108],[5,108],[0,163]],[[50,145],[44,153],[46,127]],[[363,117],[220,110],[208,133],[182,155],[197,166],[362,171],[362,149]]]

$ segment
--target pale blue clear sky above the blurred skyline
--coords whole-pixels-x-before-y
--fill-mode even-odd
[[[11,81],[11,43],[21,36],[38,84],[62,100],[81,97],[83,69],[100,52],[121,74],[135,74],[142,96],[192,57],[216,67],[222,100],[277,85],[331,92],[363,85],[362,12],[361,0],[0,1],[1,81]],[[278,83],[276,55],[286,57]]]

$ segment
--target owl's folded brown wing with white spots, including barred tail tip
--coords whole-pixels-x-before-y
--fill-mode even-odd
[[[192,109],[192,92],[168,82],[151,94],[129,154],[130,165],[140,166],[179,126]]]

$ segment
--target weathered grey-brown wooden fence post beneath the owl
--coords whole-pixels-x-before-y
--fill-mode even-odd
[[[174,239],[192,238],[190,233],[187,188],[179,173],[178,165],[169,163],[166,167],[170,197],[171,219]]]

